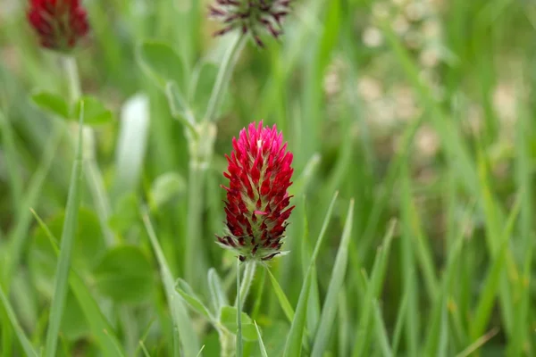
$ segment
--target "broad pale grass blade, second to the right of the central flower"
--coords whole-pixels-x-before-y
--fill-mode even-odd
[[[351,200],[348,207],[346,223],[342,231],[339,250],[331,272],[328,295],[326,295],[326,299],[323,303],[318,329],[316,331],[316,336],[314,336],[313,353],[311,354],[313,357],[322,357],[326,345],[328,345],[328,342],[330,341],[331,329],[333,328],[337,306],[339,305],[338,295],[344,282],[348,266],[348,245],[350,244],[350,237],[352,234],[353,218],[354,200]]]

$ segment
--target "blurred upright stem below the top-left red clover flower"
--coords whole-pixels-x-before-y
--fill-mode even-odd
[[[80,86],[80,76],[76,60],[71,55],[62,56],[63,69],[65,77],[69,86],[69,95],[71,104],[76,104],[82,95]],[[76,132],[78,125],[73,129]],[[115,243],[115,236],[112,230],[108,227],[108,219],[110,212],[112,211],[108,196],[105,190],[105,184],[103,175],[98,168],[95,160],[96,145],[95,145],[95,133],[93,129],[85,126],[83,128],[83,158],[85,162],[86,180],[88,183],[88,189],[93,196],[96,205],[96,214],[101,225],[103,234],[105,235],[105,242],[107,245],[113,245]],[[71,137],[73,138],[73,137]]]

